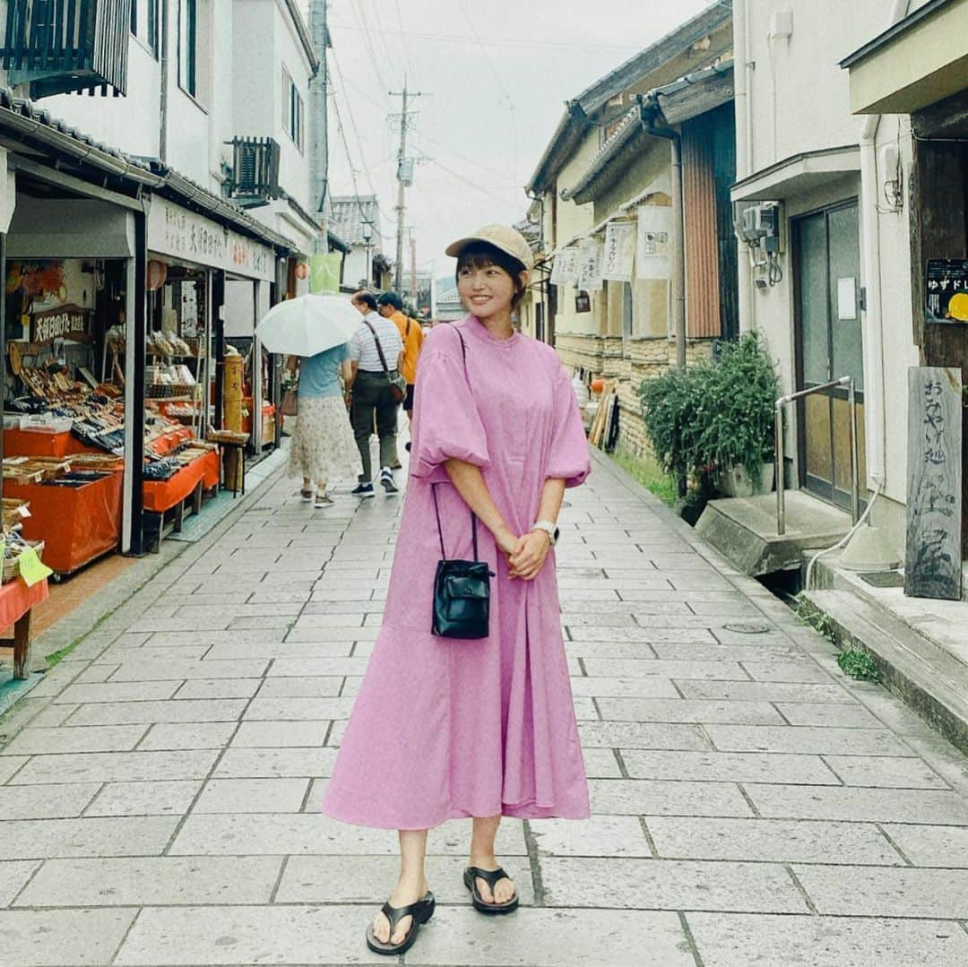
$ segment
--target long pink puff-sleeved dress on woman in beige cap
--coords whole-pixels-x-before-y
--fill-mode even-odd
[[[455,328],[464,335],[467,369]],[[410,478],[383,625],[322,811],[360,826],[423,830],[455,817],[589,816],[588,782],[561,640],[555,556],[510,580],[478,523],[491,635],[431,634],[440,558],[470,559],[470,512],[443,462],[480,467],[508,527],[526,533],[549,478],[577,486],[589,448],[555,351],[491,336],[475,317],[436,328],[417,370]]]

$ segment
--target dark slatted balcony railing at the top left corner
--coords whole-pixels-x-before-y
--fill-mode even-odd
[[[43,98],[128,84],[131,0],[8,0],[0,63]]]

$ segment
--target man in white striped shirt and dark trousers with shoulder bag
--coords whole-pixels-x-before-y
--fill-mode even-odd
[[[370,435],[376,415],[379,482],[389,497],[400,488],[393,479],[392,469],[396,455],[398,405],[390,392],[388,377],[399,373],[403,366],[404,343],[396,325],[378,314],[377,298],[372,292],[361,289],[353,293],[351,301],[363,317],[363,324],[349,343],[352,391],[349,418],[363,464],[359,485],[352,493],[360,498],[375,496]]]

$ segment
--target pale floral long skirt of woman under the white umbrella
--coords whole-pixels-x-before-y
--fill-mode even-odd
[[[288,476],[354,484],[360,472],[360,454],[349,425],[343,398],[300,396],[295,432],[289,444]]]

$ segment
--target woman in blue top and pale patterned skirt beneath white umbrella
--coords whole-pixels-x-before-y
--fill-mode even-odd
[[[351,377],[349,344],[302,359],[289,356],[286,366],[299,373],[299,414],[289,445],[288,475],[302,476],[302,499],[313,500],[317,509],[331,507],[329,488],[351,480],[359,467],[344,399],[344,383]]]

